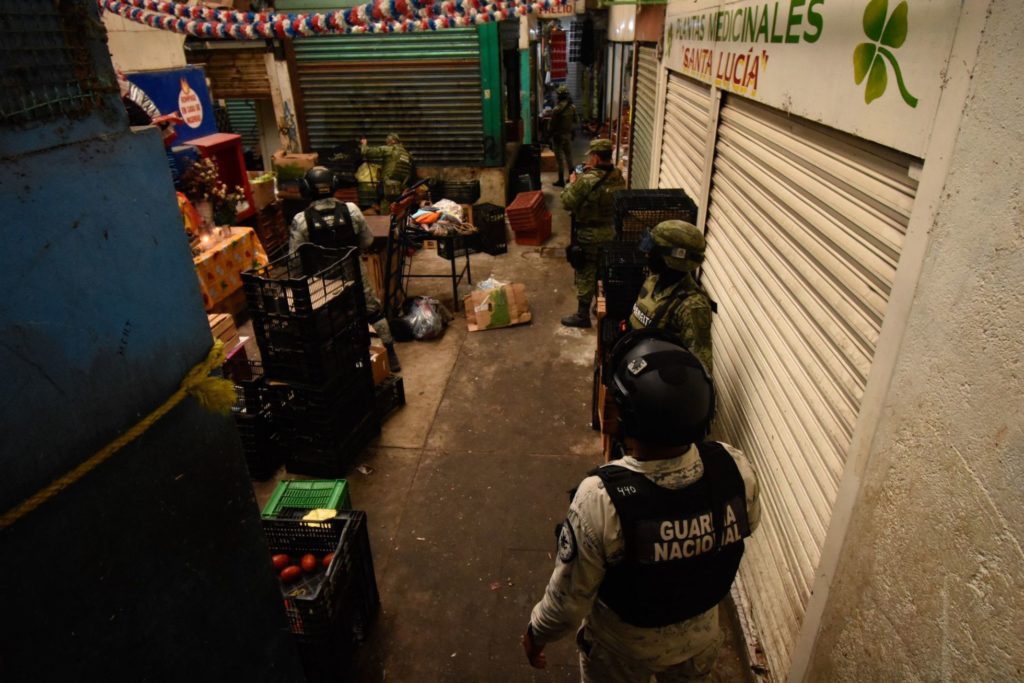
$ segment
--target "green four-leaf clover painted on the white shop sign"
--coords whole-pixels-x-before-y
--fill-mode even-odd
[[[886,18],[889,11],[888,0],[871,0],[864,8],[864,33],[871,39],[870,43],[860,43],[853,50],[853,79],[860,85],[867,77],[867,87],[864,89],[864,103],[881,97],[889,83],[889,73],[885,60],[893,67],[896,75],[896,85],[903,95],[903,101],[910,106],[918,105],[918,98],[907,91],[903,83],[903,74],[895,55],[887,48],[898,48],[906,40],[906,0],[896,5],[893,13]],[[884,58],[883,58],[884,57]]]

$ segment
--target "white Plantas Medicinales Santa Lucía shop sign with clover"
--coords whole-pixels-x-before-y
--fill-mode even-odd
[[[675,2],[666,68],[923,157],[956,0]]]

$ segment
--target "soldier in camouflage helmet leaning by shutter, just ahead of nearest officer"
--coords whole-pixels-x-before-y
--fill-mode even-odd
[[[663,221],[644,237],[640,251],[647,254],[651,274],[633,304],[630,327],[665,330],[711,373],[712,302],[692,274],[703,263],[705,247],[700,230],[681,220]]]

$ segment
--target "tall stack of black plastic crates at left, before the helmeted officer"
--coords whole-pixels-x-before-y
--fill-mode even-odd
[[[242,279],[288,471],[343,475],[380,432],[358,250],[306,244]]]

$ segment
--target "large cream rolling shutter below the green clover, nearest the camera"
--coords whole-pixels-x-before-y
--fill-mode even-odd
[[[729,97],[703,283],[717,429],[752,459],[762,524],[740,578],[773,674],[788,669],[896,273],[913,160]]]

